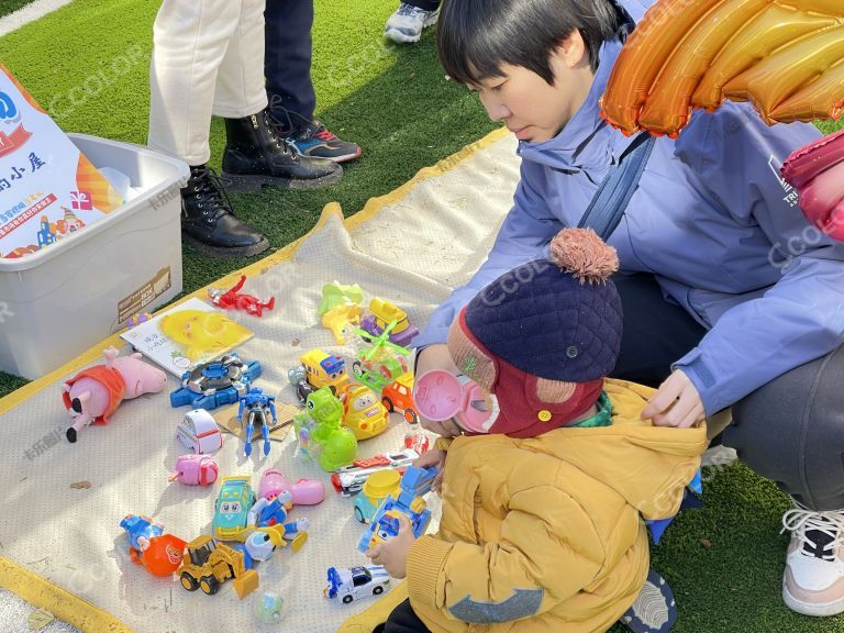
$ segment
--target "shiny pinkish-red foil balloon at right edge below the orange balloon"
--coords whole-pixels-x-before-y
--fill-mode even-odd
[[[798,190],[803,215],[830,237],[844,242],[844,130],[792,152],[781,173]]]

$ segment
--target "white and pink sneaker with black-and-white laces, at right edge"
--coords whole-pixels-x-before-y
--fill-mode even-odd
[[[844,510],[814,512],[795,502],[782,515],[791,532],[782,600],[804,615],[844,612]]]

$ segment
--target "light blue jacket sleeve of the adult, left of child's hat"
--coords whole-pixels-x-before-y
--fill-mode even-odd
[[[467,285],[456,288],[434,310],[424,331],[413,338],[413,347],[445,343],[454,318],[487,284],[521,264],[547,256],[548,244],[563,225],[548,208],[545,190],[544,168],[522,162],[513,208],[507,214],[487,260]]]

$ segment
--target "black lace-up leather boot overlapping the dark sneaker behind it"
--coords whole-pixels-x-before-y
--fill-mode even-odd
[[[278,136],[262,110],[252,116],[225,120],[223,177],[232,191],[263,185],[291,189],[319,189],[341,179],[343,168],[325,158],[300,156]]]

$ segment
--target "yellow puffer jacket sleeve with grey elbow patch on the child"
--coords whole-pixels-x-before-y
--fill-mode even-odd
[[[584,509],[559,488],[513,495],[496,543],[422,536],[408,556],[408,590],[419,602],[470,623],[532,618],[596,577],[604,544]]]

